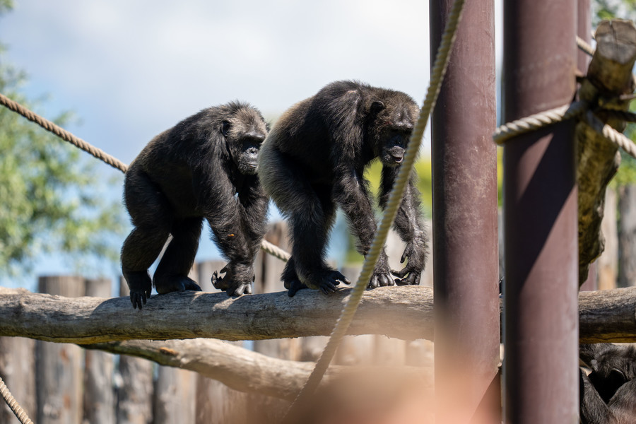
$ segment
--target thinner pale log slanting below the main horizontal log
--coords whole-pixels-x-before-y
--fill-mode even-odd
[[[307,381],[314,363],[271,358],[223,341],[194,338],[191,340],[130,340],[83,345],[110,353],[132,355],[152,360],[159,365],[178,367],[216,379],[226,386],[247,393],[264,394],[293,401]],[[373,367],[373,372],[385,370],[391,375],[420,375],[432,379],[430,367]],[[332,365],[322,384],[345,372],[364,372],[365,368]]]

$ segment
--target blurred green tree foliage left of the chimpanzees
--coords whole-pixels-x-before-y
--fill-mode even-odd
[[[0,0],[0,14],[11,10]],[[0,59],[4,47],[0,46]],[[25,73],[0,60],[0,92],[37,111],[20,94]],[[69,123],[71,115],[54,119]],[[105,201],[95,160],[20,115],[0,107],[0,276],[29,269],[37,255],[117,259],[112,235],[123,232],[119,202]]]

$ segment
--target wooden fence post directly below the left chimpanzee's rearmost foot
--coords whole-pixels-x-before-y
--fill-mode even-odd
[[[129,295],[124,278],[119,279],[119,295]],[[142,312],[141,310],[139,312]],[[119,356],[120,385],[117,388],[117,424],[153,422],[153,363]]]

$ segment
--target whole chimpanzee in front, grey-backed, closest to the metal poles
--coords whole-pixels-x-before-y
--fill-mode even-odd
[[[331,293],[339,283],[350,283],[324,261],[336,206],[366,255],[376,223],[365,167],[375,158],[382,161],[379,204],[384,208],[417,116],[416,102],[404,93],[338,81],[291,107],[273,126],[259,155],[259,178],[290,222],[293,249],[282,276],[290,296],[300,288]],[[389,271],[382,250],[371,288],[420,283],[428,251],[415,178],[394,225],[406,242],[401,261],[408,264]]]

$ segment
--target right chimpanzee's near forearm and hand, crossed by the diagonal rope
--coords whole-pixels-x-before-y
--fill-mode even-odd
[[[346,159],[343,158],[343,163]],[[373,215],[372,203],[368,190],[368,182],[359,172],[351,167],[336,172],[334,181],[334,199],[346,214],[351,230],[358,240],[357,249],[367,256],[377,228]],[[370,287],[378,285],[394,285],[389,273],[387,252],[382,248],[375,270],[369,282]]]

